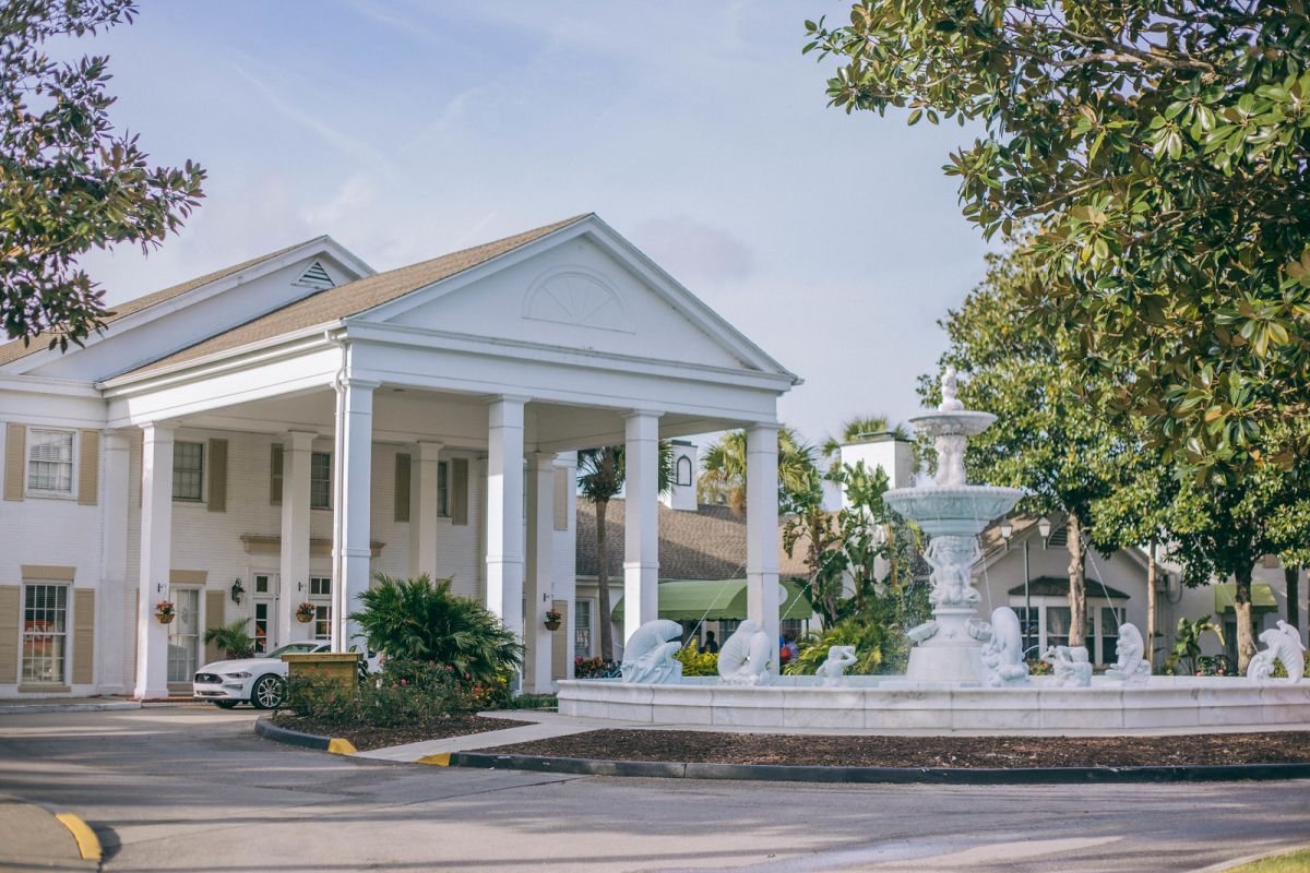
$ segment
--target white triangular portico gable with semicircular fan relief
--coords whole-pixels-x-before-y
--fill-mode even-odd
[[[586,253],[579,254],[579,243],[601,253],[612,266],[597,264],[595,258],[592,263],[586,263],[587,257]],[[552,257],[553,251],[566,254]],[[498,288],[496,274],[510,275],[507,285]],[[458,292],[476,283],[477,291],[466,297],[462,310],[455,308],[452,321],[451,309],[460,296]],[[634,289],[639,291],[634,293]],[[681,325],[669,323],[667,319],[655,319],[650,323],[647,317],[652,313],[641,312],[642,293],[658,298],[664,308],[679,317]],[[485,319],[473,317],[476,315],[470,309],[473,306],[481,308],[487,317]],[[510,313],[520,315],[527,323],[515,325],[506,318]],[[799,382],[799,378],[593,213],[487,260],[474,270],[417,288],[396,300],[352,315],[347,323],[354,321],[410,327],[439,326],[441,330],[496,338],[517,329],[517,332],[525,332],[545,344],[586,347],[595,351],[607,351],[608,347],[622,349],[624,353],[677,361],[688,360],[688,352],[700,343],[710,359],[696,363],[760,370]],[[478,321],[482,322],[481,326]],[[561,331],[557,325],[587,330],[574,331],[574,335],[570,335],[569,331]],[[680,326],[685,327],[686,332],[683,336],[671,335]],[[648,339],[655,339],[662,348],[654,352],[642,351],[637,334],[643,327],[648,334],[654,334]],[[717,353],[709,352],[709,347],[714,347]]]

